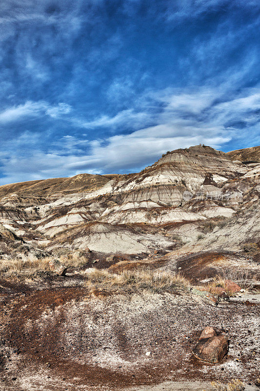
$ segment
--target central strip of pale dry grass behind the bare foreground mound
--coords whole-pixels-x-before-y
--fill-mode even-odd
[[[122,270],[118,274],[103,269],[93,269],[86,277],[88,287],[98,285],[101,288],[131,288],[162,291],[187,289],[189,281],[182,275],[161,270]]]

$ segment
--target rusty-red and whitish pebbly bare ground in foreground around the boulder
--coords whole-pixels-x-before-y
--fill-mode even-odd
[[[0,390],[202,390],[200,382],[240,378],[253,386],[259,377],[253,295],[214,307],[192,294],[108,294],[55,283],[1,282]],[[192,354],[209,325],[229,337],[218,365]]]

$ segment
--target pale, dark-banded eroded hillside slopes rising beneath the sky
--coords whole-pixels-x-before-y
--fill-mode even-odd
[[[191,245],[198,251],[237,249],[241,240],[259,237],[259,196],[260,165],[195,146],[167,152],[138,174],[80,174],[1,186],[0,223],[46,251],[65,246],[147,255],[174,249],[173,235],[186,243],[183,251]],[[201,224],[220,217],[229,218],[228,224],[198,241]]]

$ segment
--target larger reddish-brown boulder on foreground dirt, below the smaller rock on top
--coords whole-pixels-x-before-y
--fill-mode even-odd
[[[228,338],[225,335],[215,335],[201,339],[193,350],[195,357],[211,364],[220,363],[228,351]]]

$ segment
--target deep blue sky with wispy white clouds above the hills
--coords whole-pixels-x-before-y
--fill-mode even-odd
[[[2,0],[0,184],[260,144],[259,0]]]

